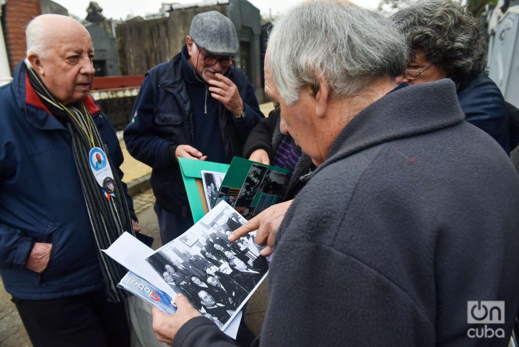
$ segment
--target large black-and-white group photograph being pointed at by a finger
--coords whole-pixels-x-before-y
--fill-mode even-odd
[[[228,235],[246,221],[222,202],[180,237],[146,258],[175,292],[185,295],[222,330],[268,272],[267,259],[254,243],[255,232],[228,241]]]

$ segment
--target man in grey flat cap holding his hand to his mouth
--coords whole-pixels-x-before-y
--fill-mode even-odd
[[[178,158],[230,163],[263,118],[247,77],[234,66],[236,29],[217,11],[196,15],[186,44],[146,73],[124,138],[153,168],[162,243],[193,225]]]

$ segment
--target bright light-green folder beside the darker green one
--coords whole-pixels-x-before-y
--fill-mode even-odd
[[[229,165],[187,158],[179,158],[179,164],[193,221],[196,223],[209,211],[206,194],[203,191],[201,171],[216,171],[225,174]]]

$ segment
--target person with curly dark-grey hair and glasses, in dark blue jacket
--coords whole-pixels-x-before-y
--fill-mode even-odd
[[[499,88],[484,74],[486,43],[467,8],[452,0],[425,0],[399,10],[391,19],[412,51],[399,82],[452,79],[466,121],[510,153],[506,104]]]

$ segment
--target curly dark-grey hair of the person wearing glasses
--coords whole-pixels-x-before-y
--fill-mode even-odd
[[[409,48],[423,50],[427,60],[454,81],[464,83],[485,69],[486,43],[466,6],[424,0],[395,12],[391,19],[406,35]]]

